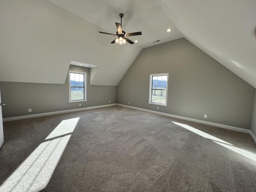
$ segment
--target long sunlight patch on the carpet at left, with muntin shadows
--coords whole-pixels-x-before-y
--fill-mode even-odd
[[[38,192],[44,189],[64,152],[79,118],[63,120],[0,186],[0,191]],[[68,134],[68,135],[66,135]],[[56,138],[58,137],[58,138]],[[52,139],[54,138],[54,139]]]

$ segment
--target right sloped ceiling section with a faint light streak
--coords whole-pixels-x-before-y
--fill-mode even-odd
[[[255,0],[160,0],[184,37],[256,88]]]

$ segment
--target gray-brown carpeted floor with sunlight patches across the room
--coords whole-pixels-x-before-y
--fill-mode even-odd
[[[120,106],[4,123],[0,191],[256,191],[248,134]]]

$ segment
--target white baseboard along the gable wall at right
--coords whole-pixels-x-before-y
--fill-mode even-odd
[[[158,115],[163,115],[163,116],[173,117],[173,118],[177,118],[177,119],[192,121],[192,122],[196,122],[196,123],[202,123],[202,124],[206,124],[206,125],[211,125],[211,126],[215,126],[215,127],[219,127],[219,128],[229,129],[229,130],[233,130],[233,131],[238,131],[238,132],[243,132],[243,133],[248,133],[248,134],[250,134],[250,132],[251,132],[251,130],[249,130],[249,129],[243,129],[243,128],[233,127],[233,126],[229,126],[229,125],[223,125],[223,124],[218,124],[218,123],[198,120],[198,119],[192,119],[192,118],[188,118],[188,117],[172,115],[172,114],[168,114],[168,113],[162,113],[162,112],[152,111],[152,110],[148,110],[148,109],[133,107],[133,106],[127,106],[127,105],[123,105],[123,104],[117,104],[117,105],[118,106],[122,106],[122,107],[131,108],[131,109],[140,110],[140,111],[150,112],[150,113],[154,113],[154,114],[158,114]],[[255,142],[255,140],[254,140],[254,142]]]

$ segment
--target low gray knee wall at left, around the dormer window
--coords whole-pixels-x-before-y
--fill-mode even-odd
[[[68,71],[65,84],[0,82],[3,118],[100,106],[117,102],[116,86],[89,85],[90,69],[70,66],[87,72],[87,101],[69,103]],[[50,70],[50,69],[49,69]],[[110,103],[109,103],[110,100]],[[81,103],[81,106],[79,106]],[[28,112],[31,108],[32,112]]]

